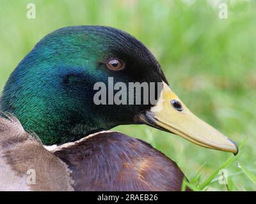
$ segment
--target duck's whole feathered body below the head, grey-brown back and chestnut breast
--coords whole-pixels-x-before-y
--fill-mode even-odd
[[[49,152],[15,117],[0,117],[2,191],[179,191],[183,178],[163,153],[122,133],[102,131]]]

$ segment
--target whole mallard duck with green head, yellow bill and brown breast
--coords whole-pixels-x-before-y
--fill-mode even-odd
[[[109,88],[109,78],[127,87],[162,86],[156,103],[109,103],[107,94],[108,104],[96,104],[99,89],[93,88],[97,82]],[[128,90],[122,92],[128,98]],[[136,92],[132,101],[140,96]],[[64,27],[45,36],[6,82],[1,112],[0,189],[179,191],[184,174],[177,164],[148,143],[108,131],[124,124],[147,124],[202,147],[238,152],[235,142],[182,103],[151,52],[113,27]],[[28,170],[35,170],[35,184],[28,184]]]

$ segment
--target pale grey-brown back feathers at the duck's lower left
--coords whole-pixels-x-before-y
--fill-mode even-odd
[[[35,182],[30,182],[31,172]],[[26,133],[12,115],[0,117],[0,190],[72,191],[71,171]]]

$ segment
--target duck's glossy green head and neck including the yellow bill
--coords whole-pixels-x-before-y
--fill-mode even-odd
[[[154,87],[157,103],[144,103],[141,93],[134,92],[132,101],[140,97],[140,104],[96,104],[95,84],[102,82],[109,91],[109,78],[127,87],[131,82],[161,83],[160,91]],[[114,95],[117,92],[131,96],[129,89],[113,90]],[[146,92],[150,95],[152,89]],[[111,97],[106,94],[106,101]],[[45,145],[71,142],[122,124],[148,124],[203,147],[238,151],[236,143],[180,101],[140,41],[112,27],[65,27],[45,36],[10,76],[1,111],[16,115]]]

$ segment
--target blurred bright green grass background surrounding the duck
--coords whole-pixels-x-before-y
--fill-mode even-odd
[[[227,19],[218,17],[221,2],[228,5]],[[26,17],[28,3],[36,4],[36,19]],[[248,136],[239,159],[225,170],[229,190],[256,191],[255,13],[254,0],[1,0],[0,89],[35,43],[55,29],[67,25],[123,29],[156,55],[172,89],[192,112],[238,144]],[[218,168],[231,154],[147,126],[115,129],[151,143],[176,161],[190,180],[204,164],[196,185],[217,170],[206,189],[227,190],[218,182]]]

